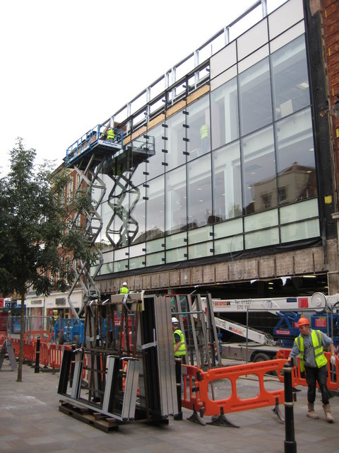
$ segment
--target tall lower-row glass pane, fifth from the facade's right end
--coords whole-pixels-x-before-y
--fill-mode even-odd
[[[186,166],[169,171],[165,176],[166,234],[186,229]]]

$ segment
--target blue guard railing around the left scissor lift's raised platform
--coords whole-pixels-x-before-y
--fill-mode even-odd
[[[109,134],[109,130],[113,130],[114,134]],[[93,129],[88,130],[88,132],[85,132],[85,134],[67,148],[65,165],[71,166],[80,156],[87,154],[88,151],[94,149],[97,145],[103,145],[115,151],[122,149],[123,139],[123,130],[115,127],[110,128],[107,125],[97,125]]]

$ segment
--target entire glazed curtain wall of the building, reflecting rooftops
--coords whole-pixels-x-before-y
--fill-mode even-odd
[[[114,271],[319,236],[304,35],[245,67],[148,130],[155,155],[112,222]]]

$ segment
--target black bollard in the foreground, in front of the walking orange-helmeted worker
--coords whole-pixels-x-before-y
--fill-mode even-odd
[[[293,364],[285,363],[284,389],[285,389],[285,453],[297,453],[297,442],[295,442],[295,419],[293,415],[293,391],[292,391],[292,370]]]

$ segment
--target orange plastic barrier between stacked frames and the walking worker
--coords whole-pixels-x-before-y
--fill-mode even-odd
[[[263,379],[268,372],[277,372],[280,374],[283,371],[285,363],[286,361],[281,359],[266,360],[265,362],[209,369],[207,372],[203,372],[198,367],[192,365],[182,365],[184,382],[187,378],[189,381],[188,394],[184,386],[182,407],[201,411],[205,415],[219,415],[220,413],[276,406],[285,400],[284,388],[268,390],[265,388]],[[249,374],[254,374],[258,378],[259,393],[256,396],[241,398],[237,391],[237,379],[248,376]],[[229,396],[215,400],[210,398],[208,389],[210,384],[214,381],[220,381],[220,379],[227,379],[231,388],[228,392]],[[293,375],[292,385],[295,385]]]

